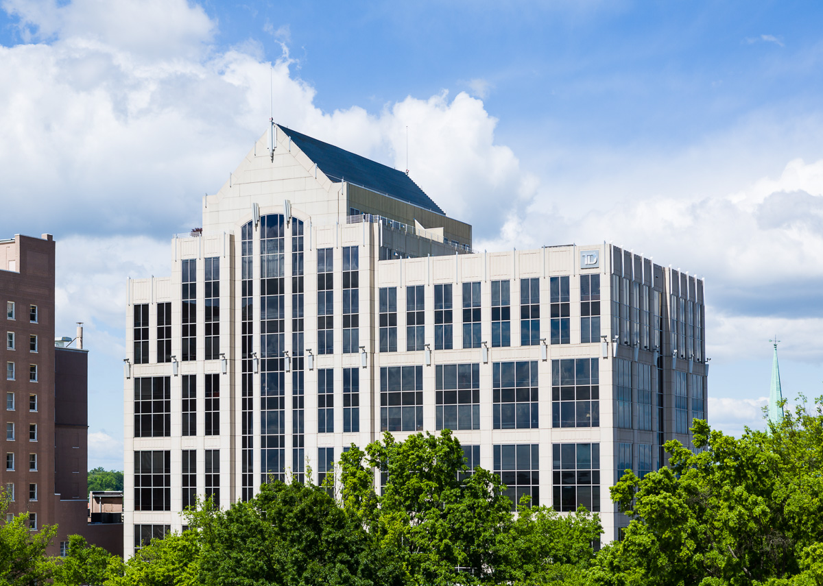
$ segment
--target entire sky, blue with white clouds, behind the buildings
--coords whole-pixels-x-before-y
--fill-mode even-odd
[[[408,127],[479,248],[613,240],[705,277],[713,425],[761,425],[775,333],[784,392],[821,394],[819,2],[0,7],[0,235],[58,240],[90,466],[122,466],[125,278],[169,272],[265,129],[272,63],[281,123],[400,168]]]

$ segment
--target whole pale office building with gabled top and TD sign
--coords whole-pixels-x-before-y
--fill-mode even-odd
[[[706,414],[702,281],[611,244],[474,251],[407,174],[289,128],[170,261],[128,281],[127,554],[195,495],[320,482],[351,444],[443,428],[515,500],[598,511],[608,542],[608,486]]]

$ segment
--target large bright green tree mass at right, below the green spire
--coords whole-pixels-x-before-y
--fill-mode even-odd
[[[671,468],[627,472],[612,499],[634,518],[604,548],[595,584],[823,584],[823,398],[740,440],[692,428]],[[787,582],[786,580],[789,580]]]

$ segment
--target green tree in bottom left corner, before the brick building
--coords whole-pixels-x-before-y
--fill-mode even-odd
[[[5,517],[8,499],[0,493],[0,517]],[[0,579],[2,584],[27,586],[49,579],[52,560],[46,548],[57,533],[56,525],[45,525],[39,531],[29,529],[29,516],[21,513],[0,524]]]

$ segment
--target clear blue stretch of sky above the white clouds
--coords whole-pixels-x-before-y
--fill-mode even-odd
[[[679,149],[752,111],[816,107],[812,2],[294,2],[205,5],[223,46],[281,30],[331,111],[490,85],[498,136]],[[263,26],[261,26],[261,24]],[[282,28],[281,28],[282,27]],[[267,42],[268,41],[268,42]],[[272,53],[273,49],[273,53]],[[568,134],[567,134],[568,133]]]

